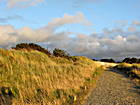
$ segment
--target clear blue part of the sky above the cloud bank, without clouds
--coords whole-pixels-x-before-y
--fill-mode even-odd
[[[8,23],[16,28],[30,26],[39,28],[47,25],[53,18],[62,17],[64,13],[74,15],[76,12],[82,12],[85,17],[94,25],[90,28],[85,28],[85,31],[96,30],[101,31],[103,28],[115,27],[117,21],[140,20],[139,0],[45,0],[35,6],[26,8],[18,8],[17,6],[8,8],[6,3],[1,1],[0,16],[19,15],[24,20],[9,20]],[[74,27],[74,25],[72,26]],[[68,27],[72,30],[75,28]],[[83,31],[79,26],[75,31]]]

